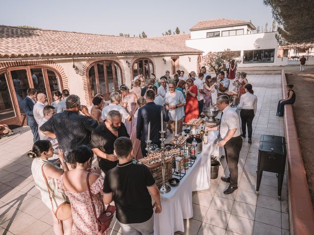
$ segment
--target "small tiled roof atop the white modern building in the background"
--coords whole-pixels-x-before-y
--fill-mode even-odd
[[[207,29],[207,28],[219,28],[225,26],[235,26],[235,25],[243,25],[243,24],[250,24],[253,29],[256,27],[250,21],[241,21],[241,20],[230,20],[225,18],[219,18],[214,20],[208,21],[200,21],[195,24],[193,27],[190,28],[191,31],[199,30],[199,29]]]

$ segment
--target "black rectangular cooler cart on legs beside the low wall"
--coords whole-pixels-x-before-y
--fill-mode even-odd
[[[282,136],[262,135],[259,147],[256,195],[259,194],[263,171],[278,174],[278,200],[281,199],[286,168],[286,139]]]

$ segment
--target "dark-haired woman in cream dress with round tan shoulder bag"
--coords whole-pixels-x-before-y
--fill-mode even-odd
[[[52,210],[53,231],[55,235],[71,235],[72,211],[67,197],[57,187],[57,179],[68,171],[61,149],[58,149],[59,159],[63,170],[48,161],[53,156],[53,148],[50,141],[36,141],[33,148],[27,154],[33,158],[31,173],[35,186],[40,190],[41,200]]]

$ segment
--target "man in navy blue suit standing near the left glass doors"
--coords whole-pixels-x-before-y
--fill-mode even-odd
[[[38,124],[34,118],[33,107],[36,101],[34,98],[37,95],[37,90],[34,88],[27,89],[27,96],[22,102],[22,108],[26,114],[27,125],[33,133],[34,142],[39,141]]]

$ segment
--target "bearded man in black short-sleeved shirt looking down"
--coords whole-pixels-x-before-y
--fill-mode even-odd
[[[105,173],[118,163],[117,156],[113,154],[113,143],[119,137],[130,136],[120,112],[112,110],[107,114],[105,122],[95,129],[90,141],[91,148],[98,157],[99,167]]]

